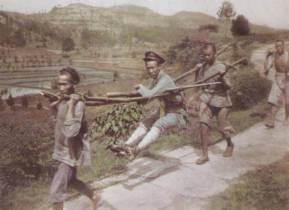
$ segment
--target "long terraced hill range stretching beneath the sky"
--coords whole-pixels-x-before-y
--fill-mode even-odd
[[[13,22],[15,30],[24,27],[20,32],[28,44],[41,41],[60,42],[63,36],[72,36],[76,46],[84,47],[90,44],[132,44],[139,41],[170,42],[185,36],[203,36],[198,32],[198,27],[204,24],[219,25],[219,33],[212,36],[223,37],[225,33],[225,24],[210,15],[181,11],[175,15],[165,16],[146,7],[130,4],[104,8],[76,3],[65,7],[54,7],[49,13],[31,15],[0,12],[2,12],[0,26],[6,28],[4,26],[9,22],[7,17],[11,17],[15,20]],[[228,24],[229,36],[230,27]],[[250,24],[250,28],[251,33],[277,31],[254,24]]]

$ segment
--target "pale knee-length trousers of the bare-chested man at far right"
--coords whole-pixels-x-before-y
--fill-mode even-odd
[[[281,94],[284,94],[285,104],[289,103],[289,76],[285,73],[276,73],[268,97],[268,103],[278,106]]]

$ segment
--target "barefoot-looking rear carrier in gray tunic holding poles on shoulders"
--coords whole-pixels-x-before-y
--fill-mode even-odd
[[[227,90],[232,86],[229,74],[226,73],[225,65],[216,61],[216,47],[214,44],[205,44],[202,49],[202,54],[206,64],[204,66],[201,63],[196,65],[196,67],[201,68],[199,72],[200,78],[206,78],[218,72],[219,75],[207,80],[206,82],[221,82],[222,84],[205,87],[200,96],[202,103],[199,115],[203,156],[196,161],[196,164],[198,165],[202,165],[209,161],[208,131],[215,115],[217,117],[218,130],[227,141],[227,148],[223,154],[225,157],[232,156],[234,145],[231,141],[231,133],[235,132],[227,118],[228,114],[226,109],[226,107],[232,106],[229,94],[227,93]]]

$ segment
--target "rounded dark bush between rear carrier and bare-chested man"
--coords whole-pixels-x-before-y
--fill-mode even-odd
[[[253,65],[244,66],[241,70],[230,74],[232,88],[230,97],[234,110],[244,110],[265,99],[270,91],[271,83],[266,78],[260,78],[253,71]]]

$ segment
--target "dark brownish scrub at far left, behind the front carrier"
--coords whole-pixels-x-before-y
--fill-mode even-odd
[[[15,139],[7,138],[0,148],[1,197],[18,185],[29,180],[51,178],[56,162],[50,153],[53,149],[53,132],[38,124],[1,122],[2,134],[14,133]]]

